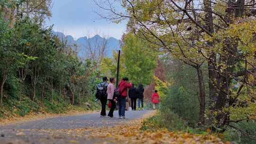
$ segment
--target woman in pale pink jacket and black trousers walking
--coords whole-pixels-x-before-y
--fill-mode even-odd
[[[114,91],[115,91],[114,84],[115,83],[116,83],[115,78],[110,78],[110,83],[109,83],[108,88],[107,88],[108,100],[111,103],[110,112],[108,114],[108,117],[114,117],[113,113],[114,113],[114,110],[116,108],[117,98],[114,97]]]

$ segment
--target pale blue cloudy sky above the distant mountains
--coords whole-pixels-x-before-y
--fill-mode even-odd
[[[63,32],[74,38],[95,35],[113,36],[120,39],[126,30],[126,23],[115,24],[101,19],[94,11],[99,8],[93,0],[53,0],[52,17],[46,26],[54,24],[54,31]]]

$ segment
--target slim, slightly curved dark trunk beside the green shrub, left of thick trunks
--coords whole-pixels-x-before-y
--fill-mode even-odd
[[[200,92],[200,122],[204,125],[204,111],[205,111],[205,87],[203,81],[203,75],[201,71],[200,65],[197,66],[197,74],[198,74],[198,83],[199,83],[199,92]]]

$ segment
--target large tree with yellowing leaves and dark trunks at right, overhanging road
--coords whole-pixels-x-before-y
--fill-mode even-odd
[[[136,36],[171,55],[183,61],[200,60],[208,64],[208,117],[213,130],[224,131],[225,126],[234,127],[232,123],[245,120],[230,119],[229,110],[253,108],[249,103],[254,103],[255,96],[250,95],[253,98],[246,99],[244,105],[239,99],[249,96],[244,90],[254,90],[254,86],[248,84],[248,77],[254,77],[256,71],[255,64],[250,62],[255,60],[256,3],[249,0],[96,0],[96,4],[105,11],[103,18],[114,22],[128,18],[131,21],[128,26]],[[118,4],[125,10],[119,11]],[[254,111],[247,114],[247,121],[254,119],[251,115],[255,115]]]

